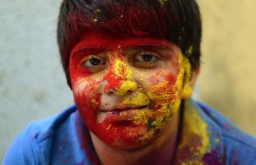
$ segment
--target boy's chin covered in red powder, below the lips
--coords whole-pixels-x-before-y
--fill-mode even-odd
[[[161,135],[161,129],[152,129],[148,123],[112,122],[104,121],[87,126],[101,141],[119,149],[137,149],[151,144]]]

